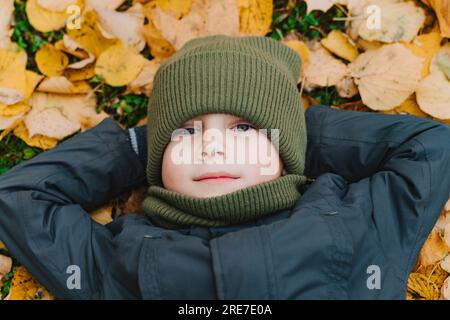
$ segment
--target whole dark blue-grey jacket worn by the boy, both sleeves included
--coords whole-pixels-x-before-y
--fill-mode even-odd
[[[137,214],[102,226],[86,211],[145,183],[145,127],[106,119],[0,177],[0,239],[58,298],[404,299],[450,195],[449,126],[318,105],[306,121],[315,181],[292,210],[226,228]]]

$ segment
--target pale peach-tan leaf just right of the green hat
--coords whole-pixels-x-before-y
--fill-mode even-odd
[[[347,66],[334,58],[320,44],[309,54],[309,63],[305,68],[305,89],[336,85],[347,73]]]

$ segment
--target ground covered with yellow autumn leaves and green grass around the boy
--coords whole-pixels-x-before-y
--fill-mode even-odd
[[[147,123],[156,70],[188,40],[262,35],[302,58],[305,108],[450,123],[448,0],[0,0],[0,175],[105,117]],[[444,143],[444,142],[443,142]],[[141,210],[144,189],[92,212]],[[450,204],[408,299],[450,298]],[[0,243],[2,299],[53,299]]]

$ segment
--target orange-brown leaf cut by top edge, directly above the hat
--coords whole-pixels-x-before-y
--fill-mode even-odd
[[[270,32],[273,15],[272,0],[237,0],[237,4],[241,33],[265,36]],[[234,11],[234,7],[232,10]],[[213,20],[211,23],[214,23]]]

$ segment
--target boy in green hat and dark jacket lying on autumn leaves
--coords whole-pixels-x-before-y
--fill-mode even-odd
[[[0,239],[58,298],[404,299],[450,194],[449,126],[304,113],[299,71],[270,38],[191,40],[155,75],[147,127],[106,119],[0,177]],[[267,161],[228,163],[251,139]],[[145,215],[90,219],[145,176]]]

